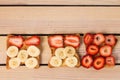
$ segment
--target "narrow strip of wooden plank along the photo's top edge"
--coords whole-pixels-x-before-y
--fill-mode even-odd
[[[119,0],[0,0],[0,4],[41,5],[120,5]]]

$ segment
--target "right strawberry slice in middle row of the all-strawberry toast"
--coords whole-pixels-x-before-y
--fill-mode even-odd
[[[110,56],[112,54],[112,47],[110,45],[105,45],[100,48],[100,55],[103,57]]]

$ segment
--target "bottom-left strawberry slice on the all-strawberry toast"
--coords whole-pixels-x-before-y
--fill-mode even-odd
[[[83,67],[90,68],[92,66],[92,63],[93,63],[93,58],[91,55],[83,56],[82,62],[81,62]]]

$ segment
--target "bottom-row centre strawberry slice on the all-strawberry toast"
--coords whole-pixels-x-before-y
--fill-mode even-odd
[[[105,59],[101,56],[96,57],[93,62],[93,67],[97,70],[102,69],[105,65]]]

